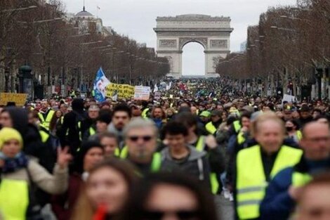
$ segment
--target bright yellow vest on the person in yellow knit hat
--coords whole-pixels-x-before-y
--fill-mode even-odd
[[[29,205],[27,181],[3,179],[0,183],[0,210],[4,219],[25,220]]]

